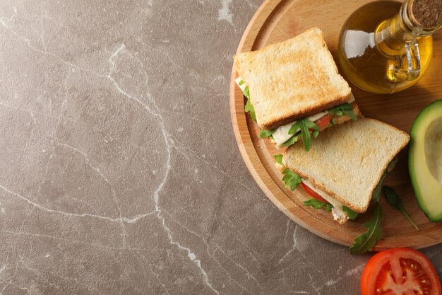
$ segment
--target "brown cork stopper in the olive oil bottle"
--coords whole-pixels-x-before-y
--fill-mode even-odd
[[[442,24],[442,0],[412,0],[411,18],[422,28],[434,28]]]

